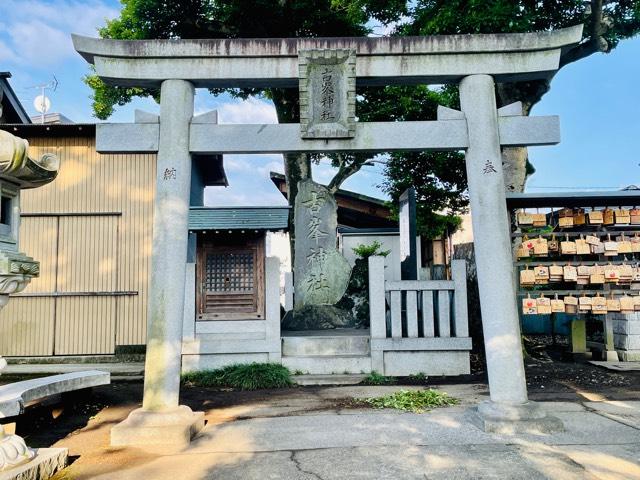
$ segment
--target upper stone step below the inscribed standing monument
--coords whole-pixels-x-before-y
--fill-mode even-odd
[[[368,356],[370,352],[368,335],[282,337],[282,355],[285,357]]]

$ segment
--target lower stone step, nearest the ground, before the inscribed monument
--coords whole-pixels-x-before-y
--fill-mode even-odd
[[[371,357],[363,355],[282,357],[282,364],[304,375],[371,373]]]

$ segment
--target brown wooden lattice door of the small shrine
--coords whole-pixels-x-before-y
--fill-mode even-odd
[[[197,268],[198,320],[263,318],[263,241],[233,246],[203,242]]]

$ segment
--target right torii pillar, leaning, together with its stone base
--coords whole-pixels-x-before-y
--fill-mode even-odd
[[[493,78],[465,77],[460,105],[469,134],[465,158],[491,396],[474,415],[487,431],[558,426],[527,399]]]

